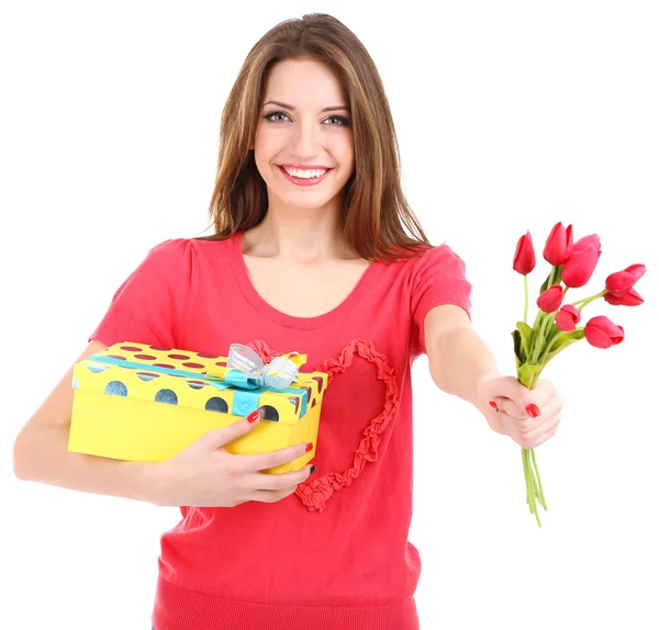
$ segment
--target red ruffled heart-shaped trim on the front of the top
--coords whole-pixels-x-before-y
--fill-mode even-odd
[[[264,360],[269,362],[272,357],[281,355],[270,350],[265,341],[252,341],[247,344]],[[351,364],[355,355],[366,359],[376,368],[376,375],[384,383],[384,405],[382,412],[376,416],[364,431],[364,438],[355,451],[353,465],[343,473],[330,472],[322,477],[309,479],[300,484],[295,493],[309,511],[324,511],[327,507],[327,500],[332,495],[349,486],[355,481],[366,462],[376,462],[378,460],[378,446],[380,445],[380,435],[387,428],[391,418],[395,415],[399,407],[398,384],[393,369],[389,365],[387,357],[376,351],[373,342],[365,339],[353,339],[340,352],[338,359],[330,359],[321,363],[315,370],[328,374],[327,386],[332,383],[335,374],[343,374]]]

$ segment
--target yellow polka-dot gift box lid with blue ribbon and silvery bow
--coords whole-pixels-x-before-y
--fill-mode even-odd
[[[236,355],[236,350],[244,355]],[[237,360],[236,360],[237,357]],[[230,358],[122,341],[74,367],[72,386],[107,395],[246,416],[266,407],[266,419],[293,424],[321,404],[327,386],[324,372],[300,372],[290,385],[263,384],[266,370],[250,371],[260,359],[249,348],[233,345]],[[299,365],[305,356],[293,357]],[[270,363],[275,365],[279,358]],[[286,363],[286,361],[284,361]],[[238,365],[241,369],[237,369]],[[290,367],[290,361],[289,361]],[[284,365],[286,368],[286,365]],[[255,373],[257,375],[255,375]],[[279,372],[270,373],[280,374]]]

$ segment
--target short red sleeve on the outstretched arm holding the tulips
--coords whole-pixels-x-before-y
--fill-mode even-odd
[[[471,319],[471,289],[465,261],[448,245],[433,247],[415,260],[411,301],[411,342],[415,352],[426,352],[424,320],[435,306],[461,306]]]

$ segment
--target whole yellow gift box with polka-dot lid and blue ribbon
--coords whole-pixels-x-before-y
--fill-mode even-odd
[[[300,470],[315,455],[324,372],[299,372],[305,355],[264,365],[234,344],[228,357],[132,341],[111,346],[74,367],[71,452],[129,461],[163,461],[199,439],[264,407],[266,415],[224,448],[255,454],[301,442],[314,448],[263,472]]]

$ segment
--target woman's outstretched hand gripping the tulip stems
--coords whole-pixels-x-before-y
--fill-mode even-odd
[[[563,407],[555,385],[541,379],[528,390],[514,376],[489,378],[479,386],[479,398],[490,427],[525,449],[535,449],[556,434]]]

